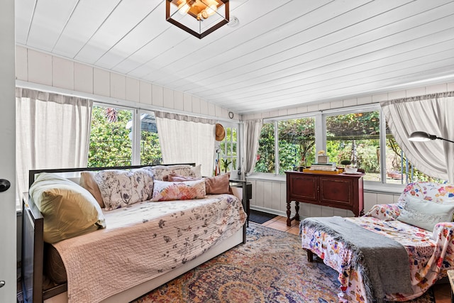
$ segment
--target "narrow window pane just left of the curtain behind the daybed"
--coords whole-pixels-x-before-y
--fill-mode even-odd
[[[157,135],[155,114],[140,115],[140,164],[162,163],[162,153]]]

